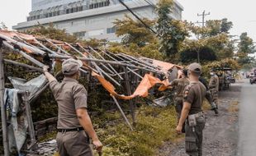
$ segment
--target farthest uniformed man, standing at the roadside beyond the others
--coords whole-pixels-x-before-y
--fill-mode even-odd
[[[216,70],[211,70],[211,79],[209,82],[209,89],[212,95],[212,101],[216,103],[216,107],[218,108],[218,94],[219,94],[219,77],[216,75]]]

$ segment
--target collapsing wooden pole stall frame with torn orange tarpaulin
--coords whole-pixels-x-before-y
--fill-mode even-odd
[[[135,106],[132,99],[137,96],[146,97],[149,94],[148,89],[156,84],[162,84],[160,88],[163,90],[168,85],[168,82],[164,80],[164,76],[173,75],[173,77],[177,77],[177,72],[174,71],[182,68],[172,63],[145,57],[133,57],[125,53],[111,53],[105,49],[92,48],[88,45],[78,43],[69,44],[54,39],[46,39],[41,36],[36,37],[7,30],[0,30],[0,46],[0,48],[9,49],[8,53],[14,53],[26,58],[34,65],[31,66],[15,60],[3,59],[2,51],[0,51],[0,103],[5,155],[8,155],[8,147],[6,114],[2,100],[3,90],[5,88],[3,75],[4,64],[12,64],[37,72],[42,72],[41,68],[48,65],[52,67],[52,71],[54,72],[54,65],[63,62],[65,59],[75,58],[81,60],[83,67],[80,71],[85,76],[98,80],[107,89],[111,95],[111,99],[116,103],[116,107],[121,112],[122,117],[124,117],[131,131],[133,131],[133,126],[128,121],[125,112],[122,110],[120,103],[118,103],[118,99],[129,100],[132,123],[135,124]],[[121,94],[116,93],[115,86],[122,87],[126,92]],[[30,99],[31,103],[48,87],[49,84],[46,84],[40,89],[34,98]],[[26,92],[26,90],[24,91]],[[26,99],[28,93],[26,92],[25,94],[24,100],[28,102],[29,100]],[[31,113],[29,103],[27,103],[26,111],[27,116],[29,116],[29,113]],[[34,141],[35,131],[31,123],[29,131],[31,131],[31,139]],[[39,133],[37,126],[36,130]]]

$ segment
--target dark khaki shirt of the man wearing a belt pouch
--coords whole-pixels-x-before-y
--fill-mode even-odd
[[[201,82],[190,82],[184,90],[183,101],[191,103],[189,115],[202,112],[202,101],[206,96],[206,87]]]

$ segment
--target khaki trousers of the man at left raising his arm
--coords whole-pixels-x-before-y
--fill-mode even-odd
[[[60,156],[92,156],[92,148],[85,131],[58,132],[57,145]]]

